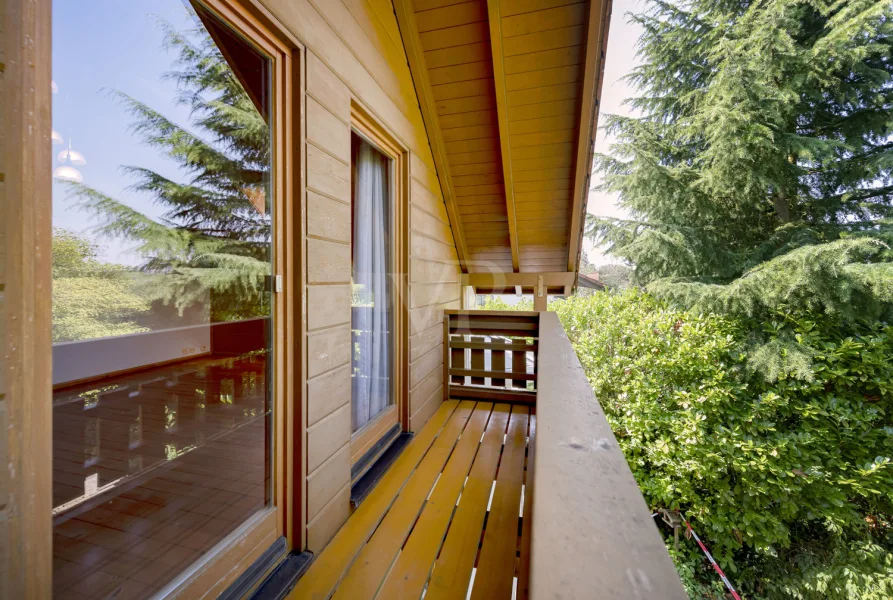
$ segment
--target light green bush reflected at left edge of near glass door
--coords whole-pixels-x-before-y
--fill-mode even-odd
[[[53,342],[146,331],[149,303],[134,273],[97,260],[87,238],[53,230]]]

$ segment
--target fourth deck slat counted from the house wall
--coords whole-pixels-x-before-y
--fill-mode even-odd
[[[466,596],[510,410],[506,404],[498,404],[493,409],[484,440],[434,565],[426,600],[464,600]]]

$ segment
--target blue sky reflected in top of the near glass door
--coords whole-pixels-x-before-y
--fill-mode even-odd
[[[133,180],[120,166],[147,167],[180,180],[183,176],[175,163],[128,131],[133,118],[109,92],[119,90],[180,125],[188,123],[188,109],[174,103],[175,83],[162,81],[175,56],[162,47],[158,18],[177,28],[194,26],[181,0],[53,2],[53,81],[59,90],[53,95],[53,129],[64,140],[64,145],[53,146],[54,156],[71,140],[72,150],[87,160],[76,167],[85,184],[153,217],[161,207],[148,196],[128,191]],[[61,164],[54,158],[54,168]],[[89,234],[96,224],[71,206],[65,185],[54,181],[53,225]],[[120,240],[97,241],[109,262],[140,262]]]

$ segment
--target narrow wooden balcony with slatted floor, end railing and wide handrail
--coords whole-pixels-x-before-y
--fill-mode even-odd
[[[557,316],[444,333],[443,404],[289,598],[686,598]]]

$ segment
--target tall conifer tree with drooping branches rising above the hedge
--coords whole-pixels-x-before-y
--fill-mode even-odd
[[[893,3],[651,0],[589,235],[683,308],[893,306]]]

